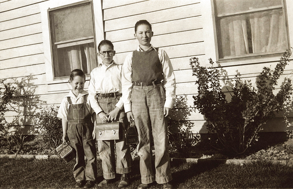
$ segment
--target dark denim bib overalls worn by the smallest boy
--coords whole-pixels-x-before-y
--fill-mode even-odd
[[[97,178],[96,146],[93,140],[93,123],[91,112],[86,107],[88,94],[84,95],[84,103],[72,104],[67,97],[67,135],[71,146],[76,150],[76,163],[73,168],[75,181],[95,181]],[[84,159],[86,156],[86,162]]]

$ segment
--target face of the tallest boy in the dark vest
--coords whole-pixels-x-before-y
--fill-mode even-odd
[[[134,37],[138,40],[140,45],[150,46],[151,37],[153,37],[153,35],[154,32],[151,31],[151,28],[148,25],[142,24],[137,26]]]

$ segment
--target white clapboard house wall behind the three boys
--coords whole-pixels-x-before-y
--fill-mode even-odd
[[[18,91],[20,110],[7,112],[5,115],[9,126],[31,134],[31,120],[36,112],[46,105],[58,106],[70,90],[66,82],[47,84],[44,47],[42,41],[42,23],[39,4],[44,0],[9,0],[0,1],[0,79],[7,78]],[[93,3],[95,3],[94,0]],[[288,6],[288,5],[287,5]],[[207,59],[215,56],[214,31],[210,1],[204,0],[103,0],[104,37],[113,42],[115,61],[123,63],[125,56],[138,46],[134,38],[134,25],[138,20],[148,20],[152,25],[155,47],[164,49],[171,59],[176,76],[176,95],[186,95],[187,101],[177,110],[176,119],[182,125],[193,124],[196,133],[206,133],[205,117],[193,111],[192,96],[197,93],[192,76],[189,59],[197,56],[203,65]],[[291,8],[292,9],[292,8]],[[207,12],[209,15],[207,15]],[[288,13],[291,26],[292,13]],[[209,23],[207,24],[207,20]],[[98,43],[98,42],[97,42]],[[292,45],[291,45],[292,46]],[[241,62],[221,64],[227,77],[233,78],[238,70],[243,79],[255,79],[264,66],[273,67],[277,59],[252,59]],[[287,66],[280,78],[291,77],[293,67]],[[223,86],[229,80],[223,78]],[[88,78],[85,90],[87,90]],[[226,89],[225,89],[226,90]],[[226,92],[229,96],[229,91]],[[290,107],[277,114],[277,118],[268,122],[265,131],[292,130],[287,127],[292,123]],[[288,116],[287,121],[282,118]]]

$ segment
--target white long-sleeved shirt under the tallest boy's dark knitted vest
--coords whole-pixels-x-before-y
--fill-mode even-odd
[[[157,49],[151,45],[148,49]],[[137,47],[137,51],[144,51],[139,46]],[[166,102],[164,107],[173,108],[173,103],[176,98],[175,89],[176,89],[176,81],[175,75],[173,72],[173,67],[171,61],[167,55],[167,53],[160,49],[158,50],[159,59],[162,63],[163,69],[163,85],[166,90]],[[131,111],[131,92],[132,92],[132,56],[133,52],[129,53],[124,61],[123,69],[122,69],[122,99],[124,102],[125,112]]]

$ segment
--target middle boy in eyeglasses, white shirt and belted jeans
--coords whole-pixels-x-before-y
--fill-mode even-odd
[[[91,71],[88,86],[89,99],[93,110],[96,112],[97,123],[103,121],[119,121],[126,123],[123,102],[120,99],[122,65],[113,61],[114,46],[109,40],[103,40],[98,45],[98,56],[102,63]],[[125,125],[125,124],[123,124]],[[129,145],[125,140],[125,128],[122,129],[122,138],[116,140],[117,161],[115,165],[114,140],[98,140],[98,152],[102,159],[104,180],[99,187],[107,187],[114,181],[115,174],[121,174],[118,188],[129,185],[127,173],[130,173],[132,157]]]

